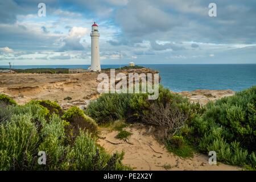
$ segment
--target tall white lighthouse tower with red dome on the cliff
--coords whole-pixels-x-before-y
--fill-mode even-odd
[[[90,37],[92,38],[90,70],[94,72],[100,72],[101,71],[100,47],[98,43],[98,39],[100,38],[100,33],[98,32],[98,25],[95,22],[92,25],[92,32],[90,32]]]

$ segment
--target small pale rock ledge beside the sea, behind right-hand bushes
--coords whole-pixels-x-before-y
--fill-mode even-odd
[[[184,91],[179,94],[188,97],[191,102],[199,102],[200,105],[205,105],[209,101],[215,101],[222,97],[233,96],[232,90],[194,90],[191,92]]]

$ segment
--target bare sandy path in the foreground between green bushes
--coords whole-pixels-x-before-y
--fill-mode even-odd
[[[134,168],[134,170],[239,170],[236,166],[228,166],[218,163],[210,165],[208,156],[196,154],[191,159],[182,159],[175,156],[159,144],[152,135],[146,134],[145,129],[129,127],[126,129],[133,133],[127,142],[115,139],[118,131],[102,130],[98,143],[110,154],[115,151],[125,151],[123,163]],[[109,141],[109,142],[108,142]],[[112,142],[112,143],[110,143]],[[119,144],[113,144],[119,143]]]

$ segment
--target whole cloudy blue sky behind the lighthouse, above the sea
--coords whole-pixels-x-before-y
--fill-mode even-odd
[[[255,0],[6,0],[0,65],[90,64],[93,22],[101,64],[256,64]]]

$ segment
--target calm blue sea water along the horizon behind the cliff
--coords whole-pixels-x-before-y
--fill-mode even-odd
[[[121,65],[124,66],[124,65]],[[256,64],[147,64],[156,69],[161,84],[174,92],[196,89],[240,91],[256,85]],[[88,68],[89,65],[16,65],[15,68]],[[119,65],[101,65],[119,68]],[[0,66],[8,68],[8,66]]]

